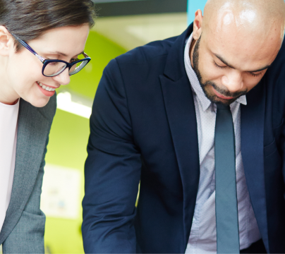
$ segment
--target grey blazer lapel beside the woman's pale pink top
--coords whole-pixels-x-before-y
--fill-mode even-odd
[[[0,233],[0,244],[16,226],[40,169],[50,123],[31,104],[20,99],[16,165],[13,178],[11,201]]]

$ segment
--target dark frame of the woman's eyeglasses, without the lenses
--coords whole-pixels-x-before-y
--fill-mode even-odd
[[[11,32],[10,32],[10,33],[11,33]],[[74,62],[72,62],[72,63],[68,63],[68,62],[66,62],[66,61],[57,60],[57,59],[44,59],[44,57],[42,57],[42,56],[40,56],[39,54],[37,54],[37,52],[35,52],[35,50],[32,49],[26,42],[24,42],[23,40],[20,40],[20,39],[19,39],[16,35],[14,35],[13,33],[11,33],[11,35],[13,35],[13,37],[14,37],[16,40],[18,40],[18,42],[20,42],[20,44],[23,45],[23,47],[25,47],[25,48],[28,49],[28,51],[30,51],[32,54],[34,54],[35,56],[37,56],[37,58],[42,62],[42,64],[44,65],[44,66],[42,66],[42,75],[44,75],[44,68],[46,68],[46,66],[47,66],[49,63],[51,63],[51,62],[66,63],[65,68],[62,68],[61,71],[59,71],[58,73],[55,73],[54,75],[44,75],[45,77],[54,77],[54,76],[59,75],[60,73],[62,73],[66,68],[68,68],[68,70],[70,70],[71,67],[72,67],[73,65],[75,65],[76,63],[80,63],[80,62],[86,61],[86,62],[85,62],[85,65],[84,65],[82,68],[80,68],[79,71],[81,71],[81,70],[87,65],[87,63],[89,63],[90,60],[91,60],[91,58],[90,58],[89,56],[87,56],[87,54],[85,54],[84,52],[83,52],[83,56],[85,56],[84,59],[80,59],[80,60],[74,61]],[[81,63],[81,64],[83,64],[83,63]],[[79,67],[80,67],[80,66],[78,66],[78,68],[79,68]],[[76,69],[75,69],[75,70],[76,70]],[[69,75],[74,75],[74,74],[76,74],[76,73],[79,72],[79,71],[75,72],[75,70],[74,70],[72,73],[69,73]]]

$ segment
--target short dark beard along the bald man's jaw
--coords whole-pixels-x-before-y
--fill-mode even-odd
[[[211,102],[214,103],[222,103],[222,104],[231,104],[233,103],[236,99],[241,97],[242,95],[245,95],[247,91],[241,91],[241,92],[229,92],[226,91],[220,87],[218,87],[214,82],[208,80],[205,83],[202,82],[202,75],[199,71],[199,48],[200,48],[200,41],[201,41],[202,35],[200,35],[199,40],[196,42],[195,47],[194,47],[194,52],[193,52],[193,70],[195,71],[197,78],[199,80],[199,83],[202,87],[203,92],[205,93],[206,97],[210,99]],[[233,97],[234,99],[217,99],[217,95],[212,95],[210,92],[206,90],[206,86],[214,87],[214,90],[219,92],[220,95],[224,95],[224,97]]]

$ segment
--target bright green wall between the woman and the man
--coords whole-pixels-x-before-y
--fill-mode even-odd
[[[71,77],[68,88],[73,92],[93,99],[104,67],[111,59],[125,52],[125,49],[107,40],[97,32],[91,31],[85,53],[92,58],[92,61],[83,71]],[[57,109],[49,135],[46,162],[78,169],[81,173],[82,183],[80,186],[80,200],[78,200],[80,216],[77,219],[47,217],[44,238],[45,245],[48,246],[51,253],[84,252],[80,232],[82,223],[81,200],[84,195],[83,173],[89,133],[88,119]]]

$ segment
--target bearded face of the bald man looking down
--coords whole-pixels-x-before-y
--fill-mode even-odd
[[[211,102],[231,104],[255,87],[277,56],[280,44],[270,37],[200,35],[193,48],[193,70]]]

